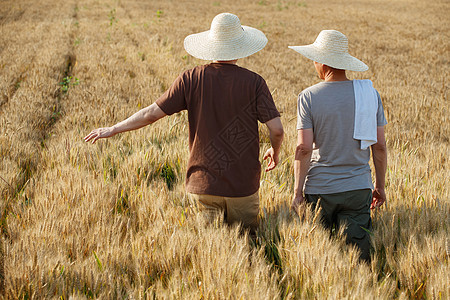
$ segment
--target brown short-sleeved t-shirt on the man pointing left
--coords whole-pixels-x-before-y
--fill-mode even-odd
[[[167,115],[188,110],[188,192],[245,197],[259,189],[258,121],[280,116],[261,76],[233,64],[198,66],[156,103]]]

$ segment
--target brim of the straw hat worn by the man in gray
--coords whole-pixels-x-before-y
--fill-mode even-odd
[[[288,47],[310,60],[333,67],[335,69],[356,72],[364,72],[369,69],[369,67],[365,63],[348,53],[324,52],[318,49],[314,44]]]

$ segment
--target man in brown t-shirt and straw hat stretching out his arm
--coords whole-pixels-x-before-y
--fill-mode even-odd
[[[267,125],[272,144],[264,156],[269,158],[266,171],[278,164],[284,133],[264,79],[236,61],[266,43],[261,31],[241,26],[237,16],[217,15],[209,31],[184,41],[188,53],[212,63],[183,72],[155,103],[112,127],[93,130],[85,141],[94,143],[186,109],[190,149],[186,191],[201,210],[223,213],[228,223],[255,229],[261,174],[258,121]]]

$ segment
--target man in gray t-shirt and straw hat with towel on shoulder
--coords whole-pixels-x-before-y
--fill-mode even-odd
[[[291,49],[314,61],[324,80],[298,97],[298,143],[292,208],[319,205],[326,227],[346,224],[347,242],[370,260],[370,208],[386,201],[387,151],[383,105],[369,80],[348,80],[345,70],[368,67],[348,54],[345,35],[324,30],[314,44]],[[369,166],[373,153],[376,181]]]

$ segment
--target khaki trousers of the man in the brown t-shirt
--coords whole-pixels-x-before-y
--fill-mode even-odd
[[[224,216],[226,223],[242,224],[254,232],[258,227],[259,191],[246,197],[223,197],[188,193],[188,197],[198,203],[199,210],[213,221],[217,215]]]

